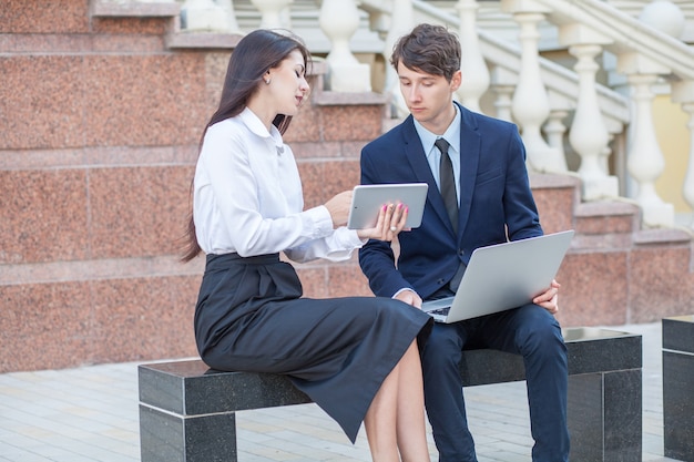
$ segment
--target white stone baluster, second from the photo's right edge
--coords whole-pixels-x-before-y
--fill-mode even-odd
[[[623,58],[620,57],[620,59]],[[642,209],[645,226],[673,226],[674,207],[672,204],[664,203],[655,191],[655,181],[661,176],[665,166],[651,112],[654,99],[651,85],[657,81],[657,74],[627,73],[627,81],[632,86],[631,97],[634,111],[630,127],[626,170],[636,183],[635,199]]]

